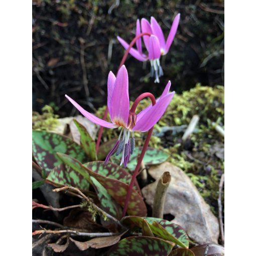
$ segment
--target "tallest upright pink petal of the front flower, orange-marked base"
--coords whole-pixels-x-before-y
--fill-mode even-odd
[[[122,65],[114,82],[114,92],[109,107],[111,120],[126,127],[129,118],[129,108],[128,73],[125,66]]]

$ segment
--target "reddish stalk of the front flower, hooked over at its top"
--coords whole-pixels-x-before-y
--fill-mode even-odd
[[[141,95],[134,101],[134,104],[132,105],[130,112],[131,112],[131,113],[135,113],[136,107],[138,106],[139,102],[140,102],[142,99],[146,98],[146,97],[149,97],[149,98],[151,99],[152,105],[155,105],[155,104],[156,104],[155,96],[154,96],[152,93],[145,92],[145,93],[141,94]],[[127,210],[127,207],[128,207],[128,203],[129,203],[129,200],[130,200],[130,197],[131,197],[131,194],[132,194],[132,189],[133,189],[133,186],[134,186],[136,177],[137,177],[137,175],[138,175],[138,172],[139,172],[139,170],[140,170],[142,160],[143,160],[144,155],[145,155],[145,153],[146,153],[146,150],[147,150],[147,148],[148,148],[148,145],[149,145],[149,142],[150,142],[150,138],[151,138],[153,129],[154,129],[154,126],[153,126],[153,127],[149,130],[149,132],[148,132],[148,135],[147,135],[146,141],[145,141],[145,143],[144,143],[144,146],[143,146],[143,148],[142,148],[141,155],[140,155],[140,157],[139,157],[139,159],[138,159],[138,163],[137,163],[137,166],[136,166],[136,168],[135,168],[133,177],[132,177],[132,179],[131,179],[131,181],[130,181],[130,185],[129,185],[129,188],[128,188],[128,191],[127,191],[127,195],[126,195],[126,198],[125,198],[125,202],[124,202],[124,207],[123,207],[123,211],[122,211],[122,217],[125,216],[125,213],[126,213],[126,210]]]

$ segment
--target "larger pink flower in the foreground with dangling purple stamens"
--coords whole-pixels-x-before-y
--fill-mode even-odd
[[[126,167],[130,155],[133,154],[134,150],[134,132],[147,132],[159,121],[175,93],[174,91],[169,92],[170,87],[171,82],[169,81],[157,103],[154,106],[148,106],[136,114],[129,109],[129,81],[125,66],[121,66],[116,78],[110,71],[107,80],[107,107],[111,122],[102,120],[89,113],[69,96],[65,96],[90,121],[107,128],[121,127],[119,138],[113,149],[107,155],[105,163],[108,162],[110,156],[115,151],[117,155],[122,152],[120,165],[124,164],[124,167]],[[132,139],[130,142],[131,133]]]

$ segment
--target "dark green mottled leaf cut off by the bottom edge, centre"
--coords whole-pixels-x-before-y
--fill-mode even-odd
[[[108,256],[167,256],[172,247],[172,244],[160,238],[131,236],[113,245]]]

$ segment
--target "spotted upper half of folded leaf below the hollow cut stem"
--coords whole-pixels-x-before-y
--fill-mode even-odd
[[[171,221],[168,221],[166,219],[153,218],[153,217],[146,217],[145,219],[150,224],[153,224],[153,221],[156,221],[162,227],[164,227],[170,234],[172,234],[177,239],[179,239],[182,243],[184,243],[186,245],[186,247],[188,247],[189,237],[188,237],[185,229],[183,227],[181,227],[180,225],[172,223]]]

